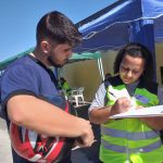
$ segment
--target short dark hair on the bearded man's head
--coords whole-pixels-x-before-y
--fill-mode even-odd
[[[49,38],[57,43],[68,42],[75,47],[80,42],[82,34],[68,17],[58,11],[53,11],[47,13],[38,22],[36,38],[37,45],[42,39]]]

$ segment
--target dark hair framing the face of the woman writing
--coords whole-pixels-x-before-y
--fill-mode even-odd
[[[118,73],[121,62],[126,54],[133,58],[142,58],[145,60],[145,71],[141,75],[141,78],[143,78],[146,82],[151,82],[153,79],[154,74],[152,54],[145,46],[136,42],[128,43],[117,52],[114,62],[114,74]]]

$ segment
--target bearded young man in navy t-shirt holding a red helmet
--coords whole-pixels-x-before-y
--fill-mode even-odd
[[[1,77],[2,112],[8,126],[12,122],[49,137],[79,138],[79,146],[90,147],[93,134],[88,121],[42,100],[59,96],[49,67],[61,67],[67,62],[72,48],[82,39],[78,29],[64,14],[54,11],[39,21],[36,39],[34,52],[12,63]],[[71,162],[70,155],[62,160]],[[29,161],[13,150],[13,162]]]

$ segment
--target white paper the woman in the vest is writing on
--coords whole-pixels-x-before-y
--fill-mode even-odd
[[[109,118],[152,117],[152,116],[163,116],[163,105],[141,108],[138,110],[129,110],[125,113],[110,116]]]

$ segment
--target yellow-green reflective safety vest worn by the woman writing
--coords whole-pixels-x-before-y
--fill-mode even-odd
[[[116,101],[112,93],[128,97],[120,76],[110,79],[106,88],[108,105]],[[112,93],[110,93],[112,92]],[[134,93],[135,105],[159,104],[158,86],[139,83]],[[103,163],[163,163],[160,131],[153,130],[139,118],[112,120],[101,125],[100,160]]]

